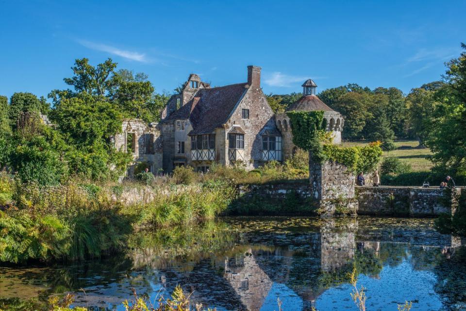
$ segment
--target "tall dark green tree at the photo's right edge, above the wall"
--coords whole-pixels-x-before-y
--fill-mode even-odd
[[[429,122],[426,145],[433,151],[433,161],[451,168],[466,171],[466,45],[465,51],[447,65],[445,87],[436,92],[435,105]]]

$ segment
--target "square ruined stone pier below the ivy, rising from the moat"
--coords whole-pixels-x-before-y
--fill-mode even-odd
[[[309,181],[312,196],[317,200],[322,216],[357,213],[355,177],[347,173],[346,166],[333,162],[316,164],[310,160]]]

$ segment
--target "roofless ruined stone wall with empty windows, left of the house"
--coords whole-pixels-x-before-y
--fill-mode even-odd
[[[133,177],[138,163],[147,163],[149,171],[156,173],[162,167],[162,142],[157,124],[147,124],[140,119],[126,119],[121,132],[112,137],[116,150],[129,152],[133,162],[128,166],[127,176]]]

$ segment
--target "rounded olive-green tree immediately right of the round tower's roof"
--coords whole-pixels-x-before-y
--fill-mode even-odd
[[[333,109],[346,115],[345,126],[343,127],[342,136],[346,139],[360,139],[361,132],[366,126],[368,116],[368,107],[371,98],[367,93],[347,93],[333,104]]]

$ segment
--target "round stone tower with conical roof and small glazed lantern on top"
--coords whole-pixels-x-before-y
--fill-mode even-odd
[[[302,97],[291,105],[288,111],[316,111],[322,110],[324,118],[327,120],[326,131],[333,133],[333,144],[341,144],[341,131],[345,123],[345,117],[339,112],[327,106],[316,96],[317,84],[311,79],[306,80],[302,85]],[[290,119],[285,113],[275,114],[275,123],[282,132],[283,137],[283,160],[288,159],[296,151],[293,144],[293,134],[291,133]]]

